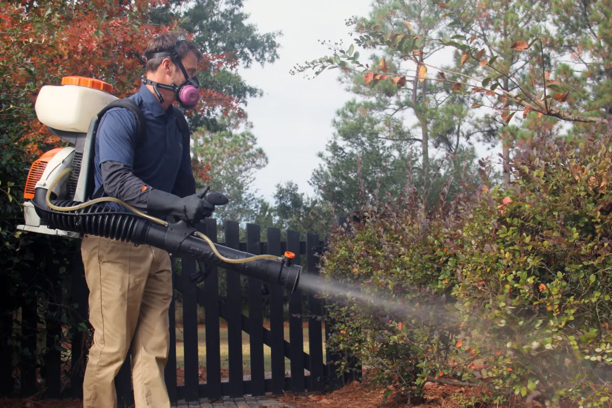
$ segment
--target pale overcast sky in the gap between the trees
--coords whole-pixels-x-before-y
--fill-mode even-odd
[[[272,202],[275,185],[293,180],[300,191],[312,196],[308,180],[320,163],[316,154],[325,149],[335,112],[351,94],[338,83],[337,71],[307,80],[289,70],[330,53],[319,39],[351,43],[345,20],[367,15],[370,0],[245,0],[244,9],[259,32],[283,32],[277,62],[239,70],[247,83],[264,91],[246,108],[253,133],[269,158],[266,168],[256,174],[254,187]]]

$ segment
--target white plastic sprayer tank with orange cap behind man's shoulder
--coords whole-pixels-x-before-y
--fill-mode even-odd
[[[104,81],[65,76],[61,86],[40,89],[34,109],[39,121],[66,132],[87,133],[91,119],[113,100],[113,86]]]

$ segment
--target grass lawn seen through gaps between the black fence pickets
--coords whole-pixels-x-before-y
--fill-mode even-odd
[[[323,336],[321,336],[321,340],[325,341],[325,330],[324,327],[321,329]],[[308,342],[308,328],[304,328],[304,351],[308,352],[310,350],[309,342]],[[228,369],[229,368],[229,354],[228,354],[228,329],[226,327],[220,328],[220,343],[221,343],[221,368]],[[251,358],[250,358],[250,344],[248,334],[242,332],[242,366],[245,371],[250,371],[251,369]],[[182,343],[183,339],[183,329],[176,328],[176,365],[179,368],[184,367],[184,344]],[[179,341],[180,340],[180,341]],[[289,341],[289,327],[285,327],[285,340]],[[270,357],[270,347],[264,344],[264,366],[265,371],[270,372],[271,369],[271,357]],[[325,344],[323,343],[323,358],[325,359]],[[198,360],[200,361],[200,366],[206,366],[206,328],[198,327]],[[323,360],[325,361],[325,360]],[[285,371],[290,371],[290,362],[289,359],[285,357]]]

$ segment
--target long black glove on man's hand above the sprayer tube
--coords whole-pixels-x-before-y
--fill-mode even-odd
[[[147,211],[173,215],[188,223],[196,223],[210,217],[215,210],[215,206],[204,199],[208,190],[206,188],[198,194],[180,198],[162,190],[152,189],[149,192]]]

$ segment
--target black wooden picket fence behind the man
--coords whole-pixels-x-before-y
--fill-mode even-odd
[[[240,242],[239,224],[233,221],[225,223],[225,241],[220,242],[230,248],[247,251],[252,254],[281,255],[285,251],[299,254],[294,259],[297,264],[304,265],[302,273],[318,273],[318,255],[315,248],[323,244],[316,234],[305,234],[305,240],[300,240],[297,231],[286,231],[286,240],[281,240],[281,231],[277,228],[267,228],[265,241],[261,241],[261,228],[255,224],[247,224],[246,242]],[[217,224],[215,220],[207,220],[204,234],[214,242],[217,241]],[[325,338],[329,336],[330,324],[325,319],[325,306],[322,299],[313,294],[296,291],[287,294],[286,289],[280,285],[263,283],[261,280],[248,277],[248,316],[242,313],[241,276],[232,271],[225,270],[227,295],[221,297],[219,292],[219,275],[221,272],[211,265],[211,274],[203,284],[196,286],[189,279],[196,270],[193,258],[182,258],[181,273],[173,272],[173,285],[175,300],[170,307],[170,338],[171,349],[166,365],[166,385],[171,401],[198,401],[200,399],[220,399],[223,396],[239,398],[243,395],[261,396],[265,393],[282,393],[284,390],[297,393],[307,390],[333,389],[344,384],[349,378],[338,378],[335,374],[334,355],[326,350],[323,339],[322,321],[324,323]],[[87,321],[88,315],[88,289],[84,280],[83,264],[80,254],[76,254],[72,280],[71,300],[77,305],[77,313]],[[176,265],[176,262],[173,262]],[[176,269],[176,268],[175,268]],[[53,273],[53,272],[50,272]],[[55,272],[56,273],[56,272]],[[54,280],[51,280],[54,281]],[[50,292],[59,294],[61,287],[51,287]],[[176,330],[175,306],[176,294],[182,300],[182,327],[184,345],[184,384],[177,384],[177,358],[176,358]],[[264,299],[266,302],[264,302]],[[53,302],[48,302],[50,305]],[[289,339],[285,339],[283,308],[288,303]],[[198,305],[203,306],[206,320],[206,357],[205,361],[198,358]],[[307,310],[303,310],[307,305]],[[52,306],[53,307],[53,306]],[[264,308],[268,308],[269,329],[264,327]],[[30,327],[31,333],[25,333],[24,346],[36,349],[37,336],[35,331],[40,320],[40,308],[37,305],[22,306],[21,325]],[[47,310],[48,314],[49,311]],[[307,313],[307,316],[305,316]],[[43,313],[45,314],[45,313]],[[46,314],[45,314],[46,316]],[[222,362],[220,354],[220,317],[227,322],[228,335],[228,378],[222,377]],[[306,317],[306,318],[305,318]],[[57,319],[50,319],[45,333],[47,343],[53,346],[56,336],[61,334],[61,327]],[[308,322],[309,352],[304,351],[303,327]],[[4,321],[9,324],[9,321]],[[4,326],[6,328],[6,326]],[[25,329],[24,329],[25,330]],[[243,373],[242,332],[248,334],[250,348],[250,371],[248,377]],[[23,335],[24,333],[22,333]],[[86,336],[88,332],[75,333],[70,339],[69,362],[62,362],[61,352],[52,347],[42,358],[32,355],[21,357],[18,362],[17,382],[21,396],[34,395],[37,391],[37,377],[42,377],[44,391],[42,395],[48,398],[80,397],[83,387],[83,373],[86,362]],[[6,338],[0,339],[0,397],[12,394],[15,373],[12,372],[11,362],[14,345],[7,346]],[[271,370],[266,373],[264,369],[264,345],[270,347]],[[285,370],[285,358],[290,361],[289,375]],[[198,371],[200,366],[206,366],[206,380],[201,382]],[[61,370],[70,373],[69,386],[62,387]],[[39,368],[39,374],[37,374]],[[130,355],[127,355],[124,365],[119,371],[115,384],[118,391],[120,406],[133,404],[133,392],[130,379]],[[6,382],[5,382],[6,381]],[[65,382],[65,380],[64,380]],[[40,387],[38,387],[40,388]]]

